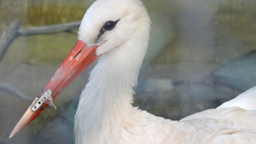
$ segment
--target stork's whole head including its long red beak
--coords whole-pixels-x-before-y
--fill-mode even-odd
[[[96,58],[127,43],[138,33],[137,37],[144,36],[148,41],[149,25],[148,13],[140,0],[95,1],[82,19],[76,45],[33,100],[9,138],[53,104],[52,100]]]

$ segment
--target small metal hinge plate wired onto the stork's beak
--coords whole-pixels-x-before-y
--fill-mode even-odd
[[[55,105],[53,104],[53,98],[51,97],[51,90],[42,90],[42,92],[40,93],[40,97],[36,97],[35,100],[32,102],[31,104],[31,110],[32,111],[36,111],[37,109],[39,109],[41,107],[42,104],[47,103],[49,105],[52,105],[55,107]],[[55,109],[57,109],[55,107]]]

